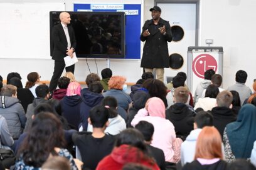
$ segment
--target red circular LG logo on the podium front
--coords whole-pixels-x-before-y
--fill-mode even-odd
[[[208,69],[213,69],[215,72],[217,71],[216,59],[210,54],[200,54],[193,60],[192,69],[196,76],[204,79],[205,71]]]

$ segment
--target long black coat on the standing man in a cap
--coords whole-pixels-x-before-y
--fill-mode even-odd
[[[159,27],[166,28],[166,34],[161,34]],[[148,29],[150,35],[142,36],[143,32]],[[141,59],[141,68],[169,68],[168,42],[171,42],[171,26],[168,21],[160,18],[157,25],[153,19],[147,20],[142,27],[141,41],[146,41],[143,48]]]

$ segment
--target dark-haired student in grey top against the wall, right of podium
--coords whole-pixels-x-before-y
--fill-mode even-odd
[[[245,99],[249,98],[252,95],[252,90],[245,86],[245,82],[247,80],[247,73],[243,70],[238,70],[235,74],[236,83],[232,86],[228,87],[228,91],[237,91],[240,96],[241,104],[245,101]]]

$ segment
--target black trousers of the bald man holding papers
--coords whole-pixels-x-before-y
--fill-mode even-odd
[[[60,76],[65,68],[65,62],[63,61],[55,61],[54,62],[54,71],[53,76],[51,77],[51,82],[49,86],[50,92],[53,92],[57,86],[58,86],[58,79],[60,79]],[[72,66],[66,67],[66,72],[72,72],[74,74],[75,71],[75,64]]]

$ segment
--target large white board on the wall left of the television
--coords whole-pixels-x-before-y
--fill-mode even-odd
[[[50,59],[50,11],[65,3],[0,3],[0,58]]]

